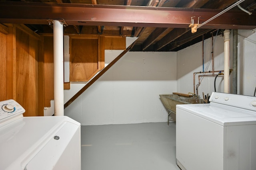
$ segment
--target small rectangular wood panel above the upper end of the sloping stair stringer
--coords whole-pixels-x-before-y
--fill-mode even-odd
[[[125,37],[105,37],[104,43],[108,50],[126,50]]]

